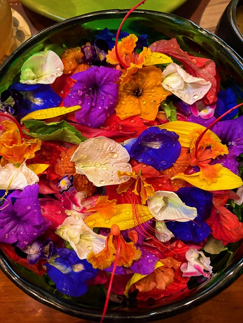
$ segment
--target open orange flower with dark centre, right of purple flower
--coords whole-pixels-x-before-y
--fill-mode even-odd
[[[161,69],[146,66],[120,84],[116,113],[121,120],[132,115],[155,120],[160,102],[171,94],[162,88],[161,75]]]

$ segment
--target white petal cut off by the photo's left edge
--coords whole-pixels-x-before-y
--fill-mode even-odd
[[[12,163],[0,166],[0,190],[6,190],[10,182],[9,190],[23,190],[38,181],[38,176],[25,163],[18,168]]]

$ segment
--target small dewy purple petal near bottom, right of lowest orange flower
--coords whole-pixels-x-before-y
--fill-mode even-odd
[[[154,272],[156,262],[158,262],[158,258],[155,254],[143,249],[139,248],[142,252],[141,257],[138,260],[134,260],[130,269],[135,273],[141,275],[149,275]]]

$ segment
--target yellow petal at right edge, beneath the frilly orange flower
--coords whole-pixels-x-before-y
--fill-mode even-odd
[[[228,168],[222,167],[219,173],[220,177],[217,178],[215,183],[211,184],[208,184],[205,179],[200,179],[200,172],[191,175],[179,174],[174,176],[172,179],[184,179],[191,185],[205,191],[231,190],[243,185],[242,179],[232,173]]]

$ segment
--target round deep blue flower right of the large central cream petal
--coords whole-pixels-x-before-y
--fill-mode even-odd
[[[140,134],[131,148],[129,147],[129,155],[157,170],[167,169],[180,155],[181,145],[178,138],[174,131],[150,127]]]

